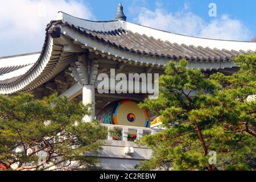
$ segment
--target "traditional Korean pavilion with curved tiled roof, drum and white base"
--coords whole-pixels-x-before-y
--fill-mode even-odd
[[[20,92],[36,99],[57,92],[84,104],[94,102],[86,122],[97,118],[110,129],[100,156],[105,169],[134,169],[151,151],[133,140],[157,132],[149,122],[154,113],[139,109],[136,102],[148,97],[140,93],[98,93],[100,73],[164,74],[168,61],[186,59],[189,67],[205,75],[238,71],[232,59],[256,51],[256,43],[196,38],[126,22],[123,7],[110,21],[92,21],[59,12],[46,27],[41,52],[0,57],[0,94]],[[114,88],[109,86],[108,90]],[[115,90],[116,92],[117,90]],[[136,121],[136,122],[135,122]]]

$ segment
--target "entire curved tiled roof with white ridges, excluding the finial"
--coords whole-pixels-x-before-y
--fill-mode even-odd
[[[56,30],[52,31],[52,28]],[[202,69],[212,69],[212,66],[206,68],[205,65],[214,65],[213,69],[230,68],[236,66],[232,63],[233,57],[256,51],[256,43],[251,42],[193,38],[122,20],[93,22],[60,12],[58,20],[47,25],[46,38],[38,59],[32,62],[27,60],[29,63],[24,64],[3,65],[1,61],[8,57],[0,60],[0,94],[34,89],[67,68],[74,60],[75,52],[64,51],[64,45],[56,39],[60,36],[96,54],[107,54],[109,59],[118,58],[118,61],[125,63],[127,60],[129,63],[133,61],[135,65],[139,62],[146,67],[149,64],[152,67],[164,67],[168,60],[185,58],[191,67],[195,63],[194,68],[200,66]],[[12,76],[6,78],[7,74]],[[1,77],[6,79],[1,80]]]

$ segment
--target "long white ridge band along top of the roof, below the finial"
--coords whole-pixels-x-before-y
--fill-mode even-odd
[[[168,41],[170,43],[186,44],[187,46],[201,46],[209,48],[227,49],[231,51],[232,49],[236,51],[249,51],[250,49],[256,51],[255,42],[246,42],[238,40],[221,40],[221,39],[209,39],[209,38],[199,38],[195,36],[188,36],[182,34],[175,34],[172,32],[158,30],[156,28],[143,26],[141,24],[135,24],[131,22],[126,22],[123,20],[112,20],[112,21],[92,21],[77,18],[75,16],[59,12],[57,15],[57,20],[62,20],[63,22],[68,22],[92,31],[103,31],[108,32],[112,30],[123,29],[126,31],[131,31],[141,35],[147,35],[148,37],[153,37],[155,39]]]

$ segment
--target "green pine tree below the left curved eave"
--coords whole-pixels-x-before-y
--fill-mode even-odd
[[[90,105],[56,94],[0,96],[0,170],[93,169],[106,130],[84,123]],[[86,155],[85,155],[86,154]],[[94,155],[95,156],[95,155]]]

